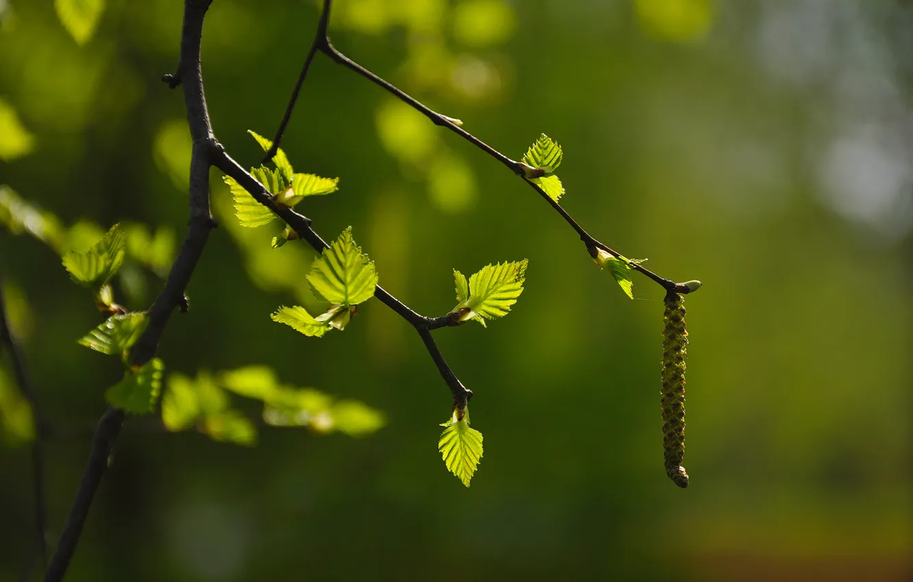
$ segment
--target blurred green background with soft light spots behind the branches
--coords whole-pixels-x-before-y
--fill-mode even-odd
[[[180,240],[189,137],[159,78],[182,4],[108,0],[79,46],[51,0],[0,0],[0,183],[67,224]],[[275,130],[317,14],[210,9],[209,110],[247,166],[245,130]],[[429,316],[454,307],[453,268],[530,260],[509,317],[436,332],[476,394],[472,486],[436,451],[451,399],[412,328],[376,301],[320,339],[271,322],[307,303],[312,254],[240,232],[214,172],[223,227],[162,338],[168,369],[266,364],[388,425],[264,429],[244,448],[128,421],[68,580],[913,576],[911,26],[908,3],[866,0],[340,0],[344,53],[511,157],[559,140],[585,228],[704,282],[686,302],[691,486],[663,470],[662,290],[638,276],[627,299],[498,162],[319,56],[283,146],[341,178],[299,205],[320,234],[352,225],[381,284]],[[0,229],[0,260],[47,419],[71,433],[47,446],[54,540],[121,370],[76,344],[100,315],[57,255]],[[118,297],[142,309],[159,285]],[[0,580],[32,551],[29,467],[27,446],[0,448]]]

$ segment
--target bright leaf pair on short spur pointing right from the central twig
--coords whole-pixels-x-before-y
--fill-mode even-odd
[[[504,317],[517,303],[526,280],[527,259],[488,265],[469,277],[454,269],[456,307],[449,317],[459,322],[476,320],[487,327],[484,317]]]

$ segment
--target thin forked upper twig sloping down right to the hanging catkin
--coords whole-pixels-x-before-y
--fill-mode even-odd
[[[538,192],[539,195],[542,197],[542,199],[545,200],[545,202],[549,203],[551,205],[551,207],[555,210],[555,212],[557,212],[561,215],[561,218],[563,218],[566,223],[571,225],[572,229],[578,235],[580,235],[580,240],[582,240],[583,244],[586,245],[587,250],[589,251],[589,253],[591,255],[594,256],[596,254],[595,249],[599,248],[599,249],[603,249],[603,251],[605,251],[609,255],[613,255],[615,257],[622,256],[619,253],[615,252],[608,245],[603,244],[602,242],[596,240],[593,237],[593,235],[591,235],[591,234],[587,233],[585,230],[583,230],[583,227],[580,225],[580,223],[577,223],[577,221],[575,221],[573,219],[571,214],[568,213],[566,210],[564,210],[564,207],[561,206],[560,203],[558,203],[555,200],[552,200],[551,196],[549,196],[544,190],[542,190],[538,184],[536,184],[534,182],[530,182],[530,180],[527,180],[528,177],[536,176],[537,173],[542,172],[539,168],[533,168],[533,167],[523,163],[522,161],[511,160],[508,156],[506,156],[503,153],[501,153],[500,151],[492,148],[484,141],[479,140],[476,136],[469,133],[467,130],[464,130],[457,123],[457,120],[454,120],[453,118],[447,117],[446,115],[442,115],[441,113],[438,113],[435,110],[428,108],[427,106],[425,106],[424,103],[422,103],[418,99],[415,99],[411,95],[408,95],[407,93],[405,93],[402,89],[397,88],[392,83],[373,74],[370,70],[363,68],[361,65],[359,65],[358,63],[353,61],[351,58],[343,55],[336,47],[333,47],[332,43],[330,42],[330,36],[327,33],[327,23],[330,19],[331,5],[332,5],[332,0],[323,0],[323,10],[320,14],[320,20],[318,21],[317,33],[314,36],[314,41],[310,46],[310,50],[308,51],[308,56],[305,58],[304,67],[301,68],[301,73],[299,75],[298,82],[295,84],[295,88],[292,91],[291,99],[289,100],[289,106],[286,109],[285,115],[283,116],[282,121],[279,124],[279,129],[276,134],[276,139],[273,140],[273,145],[269,149],[267,156],[264,158],[264,161],[267,161],[269,158],[271,158],[278,150],[278,142],[281,139],[282,134],[286,129],[286,125],[289,122],[289,117],[291,117],[291,110],[295,107],[295,101],[298,99],[299,89],[301,88],[301,84],[304,82],[304,78],[308,74],[308,68],[310,67],[310,61],[314,57],[315,50],[320,50],[321,53],[323,53],[327,57],[330,57],[333,62],[351,69],[355,73],[361,75],[363,78],[367,78],[368,80],[373,82],[375,85],[377,85],[377,86],[383,88],[384,90],[386,90],[387,92],[391,93],[396,99],[400,99],[409,107],[411,107],[411,108],[415,109],[416,111],[418,111],[419,113],[423,114],[426,118],[431,120],[435,125],[443,126],[446,129],[453,131],[454,133],[456,133],[456,135],[460,136],[464,140],[467,140],[469,143],[476,146],[479,150],[484,151],[485,153],[487,153],[489,156],[491,156],[495,160],[497,160],[497,161],[501,162],[502,164],[504,164],[505,166],[507,166],[510,171],[513,171],[515,174],[517,174],[520,178],[523,179],[524,182],[527,182],[528,184],[530,184],[530,187],[533,190],[535,190],[536,192]],[[539,173],[539,175],[543,175],[543,174]],[[658,284],[659,286],[662,286],[664,289],[666,289],[667,293],[687,294],[687,293],[691,292],[691,290],[692,290],[690,287],[686,286],[683,283],[675,283],[674,281],[672,281],[670,279],[666,279],[666,277],[656,275],[656,273],[647,269],[644,265],[640,265],[639,263],[631,263],[630,265],[631,265],[631,268],[635,269],[635,271],[639,271],[641,274],[646,275],[651,280],[656,282],[656,284]]]

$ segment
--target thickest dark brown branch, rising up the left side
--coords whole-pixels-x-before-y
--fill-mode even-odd
[[[184,104],[194,150],[190,163],[190,221],[181,251],[174,260],[162,293],[149,309],[149,326],[131,349],[130,363],[141,366],[152,359],[168,319],[175,307],[185,304],[184,290],[203,254],[209,230],[215,226],[209,211],[209,166],[221,148],[213,137],[203,94],[200,70],[200,42],[203,20],[211,0],[184,0],[184,28],[181,33],[181,57],[176,77],[184,87]],[[108,458],[124,421],[124,412],[109,407],[101,416],[89,451],[89,461],[76,499],[70,508],[60,543],[47,566],[44,582],[59,582],[67,572],[89,514],[92,498],[108,469]]]

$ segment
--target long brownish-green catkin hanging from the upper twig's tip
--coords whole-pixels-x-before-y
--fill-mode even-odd
[[[663,449],[666,474],[679,487],[687,487],[688,477],[681,466],[685,457],[685,298],[666,295],[663,314]]]

